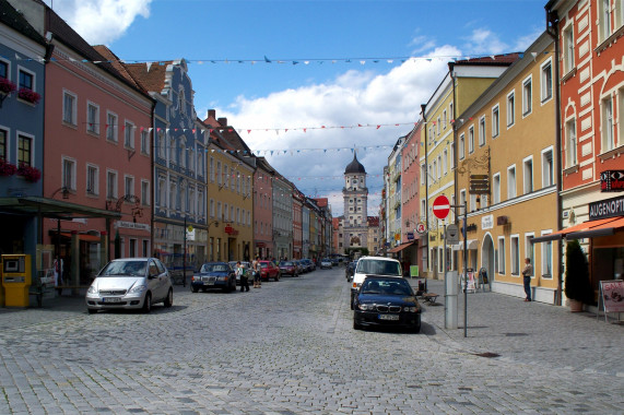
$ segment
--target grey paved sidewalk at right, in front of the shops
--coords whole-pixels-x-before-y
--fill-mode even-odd
[[[427,280],[427,290],[439,297],[434,305],[421,301],[423,333],[458,351],[624,377],[623,323],[497,293],[469,293],[464,337],[464,294],[458,296],[454,330],[445,328],[444,282]]]

